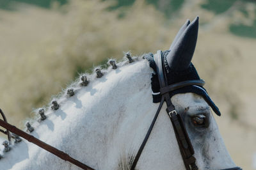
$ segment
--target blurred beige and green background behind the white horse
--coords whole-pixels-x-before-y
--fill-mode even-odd
[[[24,128],[33,110],[79,73],[129,50],[135,56],[166,50],[196,15],[193,63],[220,107],[216,121],[230,155],[256,169],[253,0],[0,0],[0,107]]]

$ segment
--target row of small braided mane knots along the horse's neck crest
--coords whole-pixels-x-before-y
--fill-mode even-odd
[[[47,117],[51,115],[52,112],[58,110],[59,107],[61,107],[61,104],[63,104],[63,102],[66,102],[68,98],[71,98],[73,95],[76,95],[79,89],[86,88],[88,83],[92,83],[93,81],[95,81],[95,79],[100,79],[100,77],[104,77],[106,73],[109,73],[118,67],[129,65],[132,62],[144,59],[144,55],[145,54],[139,57],[131,57],[130,52],[124,52],[124,57],[120,61],[118,61],[118,63],[116,63],[115,59],[108,59],[108,68],[101,70],[100,68],[102,68],[102,65],[100,65],[93,67],[93,72],[91,74],[79,73],[79,78],[77,78],[74,82],[71,82],[70,85],[67,86],[67,88],[62,89],[62,91],[58,95],[53,96],[51,102],[48,105],[40,107],[38,109],[34,109],[34,118],[26,119],[25,124],[27,125],[28,123],[30,123],[31,127],[38,127],[42,121],[44,121]],[[99,76],[99,74],[102,75]],[[83,79],[84,77],[86,77],[86,84],[84,84],[84,81],[81,81],[81,77],[83,77]],[[27,128],[25,130],[28,131],[28,126],[26,127]]]

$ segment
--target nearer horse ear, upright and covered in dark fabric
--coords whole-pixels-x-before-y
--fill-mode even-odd
[[[191,63],[198,35],[198,19],[199,17],[196,17],[196,19],[186,27],[177,39],[177,42],[173,45],[168,56],[166,56],[168,66],[175,72],[186,70]]]

